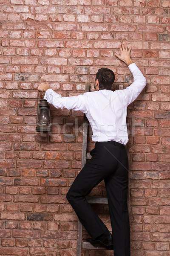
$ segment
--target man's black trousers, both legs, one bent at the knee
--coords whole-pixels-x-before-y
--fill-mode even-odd
[[[130,256],[127,208],[128,157],[125,146],[115,141],[96,142],[91,160],[71,185],[67,199],[93,239],[108,230],[85,196],[103,179],[108,197],[114,256]]]

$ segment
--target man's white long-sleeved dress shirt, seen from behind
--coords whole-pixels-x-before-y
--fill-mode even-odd
[[[127,106],[133,102],[146,85],[146,79],[135,63],[129,69],[133,75],[133,84],[124,90],[98,90],[62,97],[48,89],[44,99],[55,108],[67,108],[82,111],[88,118],[93,135],[92,140],[115,140],[126,145],[128,142],[126,116]]]

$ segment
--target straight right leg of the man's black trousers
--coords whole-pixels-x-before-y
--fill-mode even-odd
[[[130,256],[130,225],[127,208],[128,158],[121,148],[121,161],[113,175],[105,178],[113,234],[114,256]]]

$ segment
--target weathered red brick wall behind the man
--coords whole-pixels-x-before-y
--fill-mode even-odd
[[[132,75],[114,56],[126,41],[147,79],[128,108],[131,255],[169,256],[170,1],[0,3],[0,255],[76,255],[77,216],[65,195],[81,169],[83,114],[52,107],[52,134],[37,134],[37,87],[48,81],[76,96],[86,81],[94,90],[100,67],[126,87]],[[104,184],[92,193],[106,195]],[[111,230],[108,208],[96,211]]]

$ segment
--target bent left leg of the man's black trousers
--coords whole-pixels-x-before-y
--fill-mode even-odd
[[[67,194],[69,203],[93,239],[107,231],[108,228],[88,204],[85,196],[105,177],[111,175],[118,165],[116,159],[118,156],[113,158],[102,145],[98,144],[94,148],[92,159],[79,172]],[[115,146],[110,144],[107,148],[112,151]],[[118,154],[119,147],[116,149],[115,154]]]

